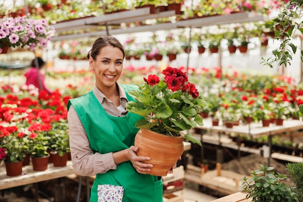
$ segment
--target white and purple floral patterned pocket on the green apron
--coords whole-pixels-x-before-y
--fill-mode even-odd
[[[124,188],[116,185],[98,185],[98,202],[122,202]]]

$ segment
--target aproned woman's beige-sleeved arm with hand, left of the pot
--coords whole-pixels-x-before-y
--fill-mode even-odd
[[[136,155],[138,147],[131,146],[114,153],[93,154],[86,131],[74,109],[70,107],[67,114],[70,135],[70,150],[75,172],[82,176],[106,173],[108,170],[117,169],[117,165],[130,160],[138,173],[150,171],[152,164],[142,163],[149,160],[149,157]]]

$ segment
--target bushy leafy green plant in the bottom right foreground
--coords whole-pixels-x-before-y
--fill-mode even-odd
[[[287,179],[286,175],[278,172],[275,174],[273,167],[260,166],[250,177],[242,179],[242,188],[247,191],[246,199],[251,199],[252,202],[299,202],[296,194],[281,182]]]

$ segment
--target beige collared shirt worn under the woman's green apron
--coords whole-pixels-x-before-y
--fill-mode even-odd
[[[117,107],[112,101],[108,100],[96,86],[93,87],[92,92],[109,115],[124,116],[127,114],[127,110],[125,108],[127,98],[124,89],[119,84],[117,85],[120,92],[121,105],[119,107]],[[86,131],[73,105],[71,105],[68,111],[67,120],[69,124],[72,162],[76,174],[91,176],[97,173],[106,173],[110,169],[117,169],[112,153],[93,154]]]

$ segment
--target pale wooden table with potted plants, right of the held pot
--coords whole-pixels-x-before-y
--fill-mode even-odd
[[[249,135],[250,137],[256,138],[261,136],[268,136],[268,145],[270,150],[270,155],[268,157],[268,166],[270,165],[271,153],[272,153],[272,136],[281,135],[284,133],[289,133],[290,138],[294,137],[294,132],[303,130],[303,121],[288,119],[284,120],[282,126],[277,126],[275,124],[270,124],[269,127],[262,127],[262,123],[250,123],[250,124],[240,124],[239,126],[234,126],[233,128],[227,128],[223,126],[222,122],[219,122],[219,126],[212,126],[211,118],[203,118],[204,126],[197,126],[197,129],[203,129],[211,132],[217,132],[220,136],[222,133],[234,133],[240,136],[241,134]],[[203,132],[201,133],[201,141]],[[239,138],[238,138],[239,140]],[[219,139],[220,141],[220,139]],[[238,157],[240,157],[240,142],[238,142]],[[203,152],[202,152],[203,153]],[[203,158],[203,157],[202,157]]]

